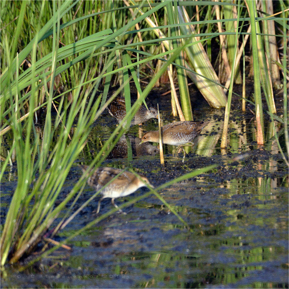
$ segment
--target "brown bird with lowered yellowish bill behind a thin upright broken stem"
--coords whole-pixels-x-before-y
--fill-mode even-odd
[[[178,148],[187,143],[193,145],[193,140],[198,137],[202,129],[210,121],[176,121],[161,127],[161,136],[163,144],[177,145]],[[144,133],[141,138],[141,144],[146,141],[160,142],[159,131],[151,130]],[[177,148],[177,150],[178,150]],[[183,149],[184,150],[184,149]],[[184,151],[185,157],[185,151]],[[183,158],[184,162],[184,158]]]

